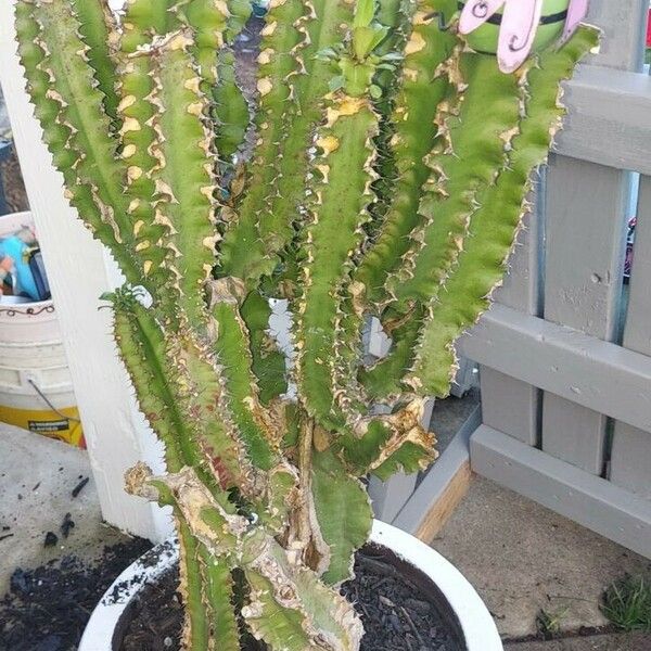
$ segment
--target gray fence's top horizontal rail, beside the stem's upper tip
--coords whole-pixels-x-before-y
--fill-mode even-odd
[[[651,175],[651,78],[582,66],[566,85],[563,103],[571,111],[556,152]]]

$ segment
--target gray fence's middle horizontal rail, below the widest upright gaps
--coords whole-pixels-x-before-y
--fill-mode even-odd
[[[651,357],[502,305],[459,346],[478,363],[651,432]]]

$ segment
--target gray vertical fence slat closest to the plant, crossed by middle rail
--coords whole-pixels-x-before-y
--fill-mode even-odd
[[[538,315],[540,309],[544,201],[545,194],[540,193],[537,210],[524,218],[509,260],[509,275],[495,293],[498,303],[527,315]],[[540,391],[488,367],[481,368],[481,387],[484,423],[537,445]]]

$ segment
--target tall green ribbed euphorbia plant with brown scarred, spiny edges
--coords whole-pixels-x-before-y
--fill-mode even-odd
[[[194,651],[240,649],[243,629],[273,650],[359,646],[337,586],[371,526],[360,477],[434,459],[423,403],[448,391],[559,82],[597,42],[582,27],[503,74],[457,10],[271,0],[252,107],[232,52],[246,0],[128,0],[119,20],[105,0],[17,0],[66,196],[126,278],[115,340],[168,470],[127,484],[174,509]],[[293,315],[289,373],[270,297]],[[370,316],[393,345],[365,367]]]

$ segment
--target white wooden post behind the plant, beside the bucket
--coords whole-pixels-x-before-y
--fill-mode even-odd
[[[41,142],[16,56],[13,0],[0,1],[0,82],[73,376],[102,513],[107,523],[152,539],[171,531],[167,513],[123,489],[143,459],[162,468],[162,448],[145,425],[116,355],[111,314],[99,296],[119,284],[113,260],[63,197],[63,178]]]

